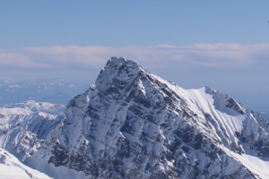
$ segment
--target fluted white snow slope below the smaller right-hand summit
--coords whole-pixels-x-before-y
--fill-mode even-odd
[[[184,95],[190,100],[189,105],[192,110],[198,107],[199,111],[204,114],[212,115],[213,120],[217,122],[213,126],[213,131],[219,129],[229,136],[229,141],[236,142],[235,132],[243,130],[243,121],[246,119],[246,115],[241,115],[229,107],[225,107],[226,98],[223,97],[224,94],[220,92],[208,94],[205,90],[206,87],[198,90],[185,90]],[[196,111],[196,113],[199,113],[199,111]]]

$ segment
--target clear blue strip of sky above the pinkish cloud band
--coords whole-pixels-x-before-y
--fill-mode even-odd
[[[267,43],[267,1],[0,1],[2,48]]]

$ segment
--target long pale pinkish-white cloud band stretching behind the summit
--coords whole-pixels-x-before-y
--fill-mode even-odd
[[[97,69],[105,65],[110,56],[126,56],[147,69],[192,68],[207,66],[218,68],[244,67],[268,59],[269,44],[195,44],[175,47],[27,47],[20,50],[0,50],[0,68],[20,71],[48,70],[72,71]]]

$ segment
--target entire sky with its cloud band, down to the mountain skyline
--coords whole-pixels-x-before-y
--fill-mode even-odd
[[[110,56],[269,110],[268,1],[0,0],[0,79],[95,81]]]

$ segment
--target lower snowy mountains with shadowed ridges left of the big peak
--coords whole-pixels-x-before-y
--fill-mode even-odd
[[[63,119],[64,105],[25,101],[0,107],[0,148],[20,160],[41,146]]]

